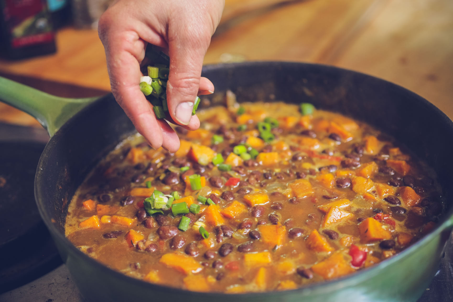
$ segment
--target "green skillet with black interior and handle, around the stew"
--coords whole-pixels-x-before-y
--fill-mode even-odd
[[[31,113],[53,134],[39,161],[35,197],[82,295],[90,301],[416,301],[434,276],[453,228],[452,121],[400,86],[336,67],[246,62],[206,66],[203,76],[216,86],[213,103],[222,100],[227,89],[239,101],[311,102],[395,136],[437,172],[446,203],[442,218],[429,235],[380,264],[291,291],[199,293],[130,278],[83,254],[64,237],[67,207],[74,192],[96,163],[134,132],[130,120],[112,95],[80,110],[93,100],[62,100],[0,79],[0,99]]]

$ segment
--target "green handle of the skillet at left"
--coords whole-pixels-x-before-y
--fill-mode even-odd
[[[50,136],[73,115],[98,97],[69,99],[52,96],[29,86],[0,77],[0,101],[32,115]]]

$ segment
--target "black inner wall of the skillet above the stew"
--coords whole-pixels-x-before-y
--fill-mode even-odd
[[[452,194],[452,141],[444,139],[453,137],[452,122],[434,105],[400,86],[335,67],[294,62],[212,65],[203,69],[203,76],[216,86],[212,104],[231,89],[240,102],[311,102],[366,121],[426,159],[438,174],[445,200]],[[72,195],[94,165],[133,131],[132,123],[109,95],[74,116],[46,146],[35,194],[44,221],[53,225],[51,231],[65,245],[71,245],[63,237]],[[450,204],[448,208],[451,216]]]

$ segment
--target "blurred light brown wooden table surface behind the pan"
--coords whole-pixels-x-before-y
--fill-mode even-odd
[[[205,63],[285,60],[331,64],[404,86],[453,118],[452,0],[226,0]],[[0,61],[0,73],[109,91],[95,30],[57,33],[58,53]],[[0,120],[37,125],[0,106]]]

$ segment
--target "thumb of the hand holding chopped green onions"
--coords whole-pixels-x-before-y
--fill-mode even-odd
[[[193,104],[200,85],[203,58],[211,41],[211,31],[186,27],[183,31],[173,33],[169,27],[168,107],[170,116],[176,123],[188,125],[192,119]]]

